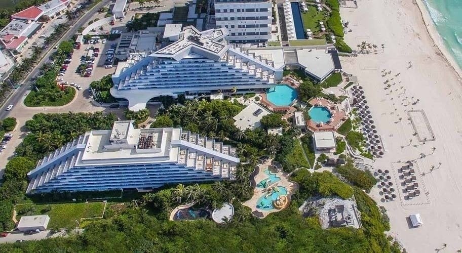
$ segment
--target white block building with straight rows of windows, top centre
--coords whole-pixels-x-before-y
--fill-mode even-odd
[[[232,43],[261,43],[271,38],[272,2],[215,0],[217,28],[226,28]]]

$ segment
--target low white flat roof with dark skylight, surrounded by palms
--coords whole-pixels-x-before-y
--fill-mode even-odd
[[[250,103],[246,108],[244,108],[238,115],[234,116],[234,124],[236,127],[242,131],[246,129],[256,129],[259,128],[261,123],[260,119],[264,115],[271,114],[271,111],[268,111],[263,106],[253,102]]]

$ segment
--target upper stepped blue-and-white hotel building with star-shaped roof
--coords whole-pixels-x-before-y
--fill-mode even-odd
[[[132,54],[112,75],[112,96],[127,99],[129,109],[137,111],[159,96],[245,93],[282,79],[282,67],[230,47],[224,41],[227,34],[225,28],[199,31],[187,26],[167,47],[150,55]]]

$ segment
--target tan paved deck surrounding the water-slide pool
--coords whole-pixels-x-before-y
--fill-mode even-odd
[[[266,168],[272,164],[272,159],[266,161],[265,163],[263,164],[259,164],[258,165],[258,174],[255,175],[255,178],[253,179],[256,184],[258,184],[261,180],[263,179],[266,179],[268,177],[268,175],[264,174],[264,171],[266,170]],[[297,185],[291,181],[288,180],[288,173],[275,173],[276,176],[280,177],[281,178],[281,181],[275,183],[275,184],[272,184],[271,186],[282,186],[282,187],[285,187],[287,189],[287,198],[289,200],[289,203],[290,203],[290,197],[291,195],[294,193],[295,191],[295,187],[297,187]],[[262,188],[254,188],[253,189],[253,196],[251,199],[247,200],[246,202],[242,203],[243,205],[245,206],[248,206],[250,207],[250,209],[252,209],[252,212],[254,211],[257,211],[257,212],[260,212],[263,214],[263,217],[266,217],[267,215],[271,214],[271,213],[276,213],[276,212],[279,212],[280,210],[282,209],[272,209],[272,210],[262,210],[262,209],[258,209],[257,208],[257,202],[258,202],[258,199],[265,195],[266,193],[264,192],[265,189],[262,189]],[[287,203],[286,206],[289,205],[289,203]],[[284,208],[283,208],[284,209]]]

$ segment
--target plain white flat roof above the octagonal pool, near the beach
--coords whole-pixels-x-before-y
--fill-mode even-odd
[[[334,70],[332,56],[324,49],[299,49],[297,50],[298,64],[305,71],[323,79]]]

